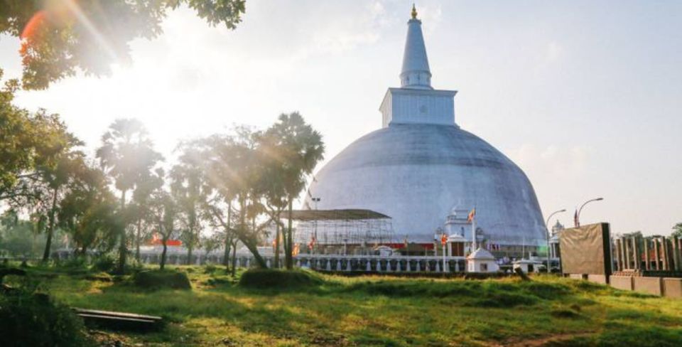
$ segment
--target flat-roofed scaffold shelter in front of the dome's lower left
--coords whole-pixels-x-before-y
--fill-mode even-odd
[[[318,246],[393,245],[391,218],[372,210],[295,210],[296,242]]]

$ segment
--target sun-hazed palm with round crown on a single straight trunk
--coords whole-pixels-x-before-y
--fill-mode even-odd
[[[126,228],[130,218],[126,215],[126,193],[144,181],[154,166],[163,160],[153,150],[144,125],[136,119],[117,119],[102,136],[102,146],[97,158],[114,185],[121,192],[119,205],[119,262],[118,270],[124,272],[128,253]]]

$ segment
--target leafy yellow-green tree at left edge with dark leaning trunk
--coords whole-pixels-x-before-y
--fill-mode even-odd
[[[1,71],[0,71],[1,77]],[[11,105],[16,83],[0,92],[0,201],[47,215],[43,262],[50,257],[55,213],[63,188],[82,164],[82,142],[67,132],[57,114],[31,114]]]

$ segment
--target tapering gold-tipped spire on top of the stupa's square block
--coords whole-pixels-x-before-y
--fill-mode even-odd
[[[421,33],[421,21],[417,19],[417,9],[412,4],[412,18],[407,22],[407,39],[403,55],[403,68],[400,73],[401,87],[433,89],[431,70],[428,68],[426,45]]]

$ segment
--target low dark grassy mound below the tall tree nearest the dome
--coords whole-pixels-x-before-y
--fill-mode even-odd
[[[250,269],[239,279],[240,286],[254,289],[317,287],[323,282],[320,275],[298,269]]]

